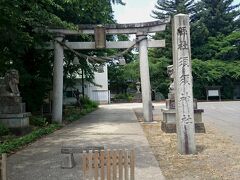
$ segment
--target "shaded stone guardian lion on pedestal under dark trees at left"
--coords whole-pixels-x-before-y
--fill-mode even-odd
[[[26,128],[29,116],[18,89],[19,74],[15,69],[6,72],[0,79],[0,123],[9,128]]]

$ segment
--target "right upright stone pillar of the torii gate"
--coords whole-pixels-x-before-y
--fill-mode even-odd
[[[138,39],[143,39],[139,42],[139,58],[140,58],[140,76],[142,88],[142,103],[143,103],[143,117],[145,122],[152,122],[152,98],[151,85],[148,65],[148,41],[147,34],[136,34]]]

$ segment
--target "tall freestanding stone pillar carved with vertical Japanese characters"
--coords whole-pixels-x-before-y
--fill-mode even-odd
[[[180,154],[194,154],[196,145],[190,28],[189,17],[185,14],[175,15],[173,20],[173,65],[178,152]]]

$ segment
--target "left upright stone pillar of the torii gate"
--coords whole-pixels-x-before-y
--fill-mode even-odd
[[[54,63],[53,63],[53,104],[52,120],[62,123],[62,101],[63,101],[63,46],[57,41],[62,41],[63,35],[55,37],[54,41]]]

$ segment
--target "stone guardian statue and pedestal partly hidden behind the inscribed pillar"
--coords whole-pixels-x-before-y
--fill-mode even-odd
[[[167,67],[167,73],[171,79],[169,86],[168,99],[166,99],[166,108],[162,109],[163,119],[161,128],[166,133],[176,133],[176,109],[175,109],[175,89],[174,89],[174,70],[173,65]],[[202,122],[203,109],[198,109],[197,99],[193,99],[195,132],[205,133],[204,123]]]

